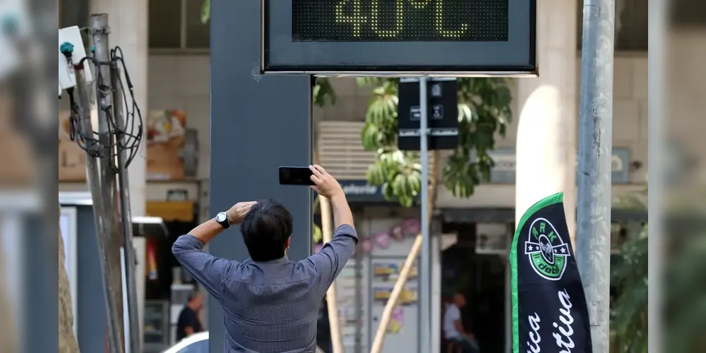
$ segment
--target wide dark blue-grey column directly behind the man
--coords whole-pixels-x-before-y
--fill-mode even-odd
[[[311,253],[311,190],[280,186],[277,167],[311,163],[311,80],[260,76],[261,1],[211,0],[210,213],[274,198],[294,217],[287,255]],[[244,260],[239,227],[210,243],[215,256]],[[223,313],[208,303],[210,353],[223,352]]]

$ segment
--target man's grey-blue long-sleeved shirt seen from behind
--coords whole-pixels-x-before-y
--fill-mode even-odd
[[[342,225],[321,251],[296,262],[287,256],[266,262],[217,258],[191,235],[179,237],[172,253],[223,307],[225,353],[298,353],[316,349],[321,299],[357,242],[355,229]]]

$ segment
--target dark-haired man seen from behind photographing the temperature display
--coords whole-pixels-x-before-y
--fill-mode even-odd
[[[321,302],[358,237],[338,181],[318,165],[309,169],[312,189],[331,201],[336,229],[333,239],[309,258],[287,258],[292,215],[274,200],[237,203],[174,242],[172,252],[179,263],[223,308],[224,352],[316,350]],[[217,258],[201,250],[224,229],[238,224],[250,254],[246,261]],[[311,241],[311,234],[299,237]]]

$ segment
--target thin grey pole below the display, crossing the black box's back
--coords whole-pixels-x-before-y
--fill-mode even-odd
[[[431,239],[429,239],[429,147],[426,77],[419,78],[419,162],[421,163],[421,265],[419,266],[419,352],[431,347]]]

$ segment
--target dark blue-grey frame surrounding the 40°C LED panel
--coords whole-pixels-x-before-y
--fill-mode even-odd
[[[507,42],[294,42],[292,1],[239,1],[261,1],[261,73],[454,77],[539,74],[537,0],[510,0]]]

